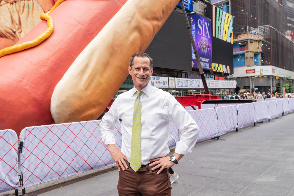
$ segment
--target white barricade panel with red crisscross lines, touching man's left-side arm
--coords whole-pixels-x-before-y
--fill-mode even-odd
[[[20,169],[23,187],[113,165],[102,144],[99,123],[92,120],[24,128],[20,133],[23,151]],[[120,122],[114,129],[120,149]]]

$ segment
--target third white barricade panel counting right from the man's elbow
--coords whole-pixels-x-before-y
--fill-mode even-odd
[[[254,105],[253,103],[244,103],[237,105],[237,124],[242,128],[254,123]]]

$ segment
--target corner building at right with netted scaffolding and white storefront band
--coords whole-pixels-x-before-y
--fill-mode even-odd
[[[216,6],[228,2],[230,14],[234,17],[233,58],[237,88],[253,91],[251,82],[255,82],[255,90],[264,92],[279,90],[277,83],[290,83],[293,86],[294,42],[291,37],[293,31],[290,31],[294,26],[294,19],[291,20],[294,14],[292,1],[211,1]],[[271,70],[279,71],[265,72],[259,66],[270,66]],[[261,78],[258,77],[260,73]],[[277,76],[279,79],[275,80]]]

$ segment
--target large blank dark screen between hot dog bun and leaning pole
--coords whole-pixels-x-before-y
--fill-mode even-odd
[[[191,41],[183,15],[173,11],[145,51],[153,66],[192,71]]]

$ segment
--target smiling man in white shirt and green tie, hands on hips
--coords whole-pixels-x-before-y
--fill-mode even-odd
[[[146,53],[131,57],[128,72],[134,88],[120,94],[103,116],[101,138],[119,170],[119,195],[171,195],[168,168],[191,153],[199,128],[191,115],[168,92],[149,85],[152,58]],[[115,146],[113,128],[121,119],[121,150]],[[171,157],[169,123],[183,130]]]

